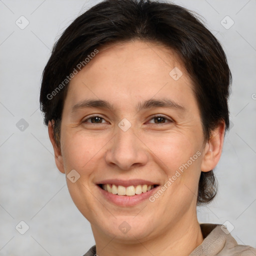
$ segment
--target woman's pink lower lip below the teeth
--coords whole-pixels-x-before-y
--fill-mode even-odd
[[[107,192],[106,190],[102,189],[97,185],[98,189],[102,193],[102,195],[110,202],[119,205],[119,206],[132,206],[135,204],[138,204],[146,199],[149,198],[149,196],[154,193],[155,189],[158,187],[154,187],[149,191],[146,191],[145,193],[141,194],[134,194],[134,195],[118,195],[118,194],[112,194]],[[149,199],[148,199],[149,200]]]

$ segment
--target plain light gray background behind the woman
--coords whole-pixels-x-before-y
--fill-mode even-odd
[[[55,166],[38,99],[53,43],[96,2],[0,0],[0,255],[82,255],[94,244],[90,225]],[[219,191],[211,204],[198,207],[198,219],[228,220],[238,243],[256,247],[256,1],[173,2],[205,18],[233,75],[231,129],[215,168]],[[21,15],[29,21],[24,29],[15,23]],[[229,29],[221,24],[226,15],[234,21]],[[228,18],[223,22],[231,24]],[[21,118],[28,124],[23,130]],[[21,220],[29,226],[24,234],[15,229],[17,225],[24,231]]]

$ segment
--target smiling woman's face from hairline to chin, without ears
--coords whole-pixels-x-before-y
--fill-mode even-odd
[[[143,241],[196,217],[205,144],[192,86],[174,52],[139,40],[100,49],[70,81],[57,165],[94,235]]]

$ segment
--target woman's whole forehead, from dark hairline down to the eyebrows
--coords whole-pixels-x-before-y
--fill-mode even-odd
[[[192,84],[177,54],[162,44],[133,40],[99,52],[70,81],[67,100],[110,99],[117,105],[169,95],[175,102],[191,97]],[[173,71],[174,70],[174,71]],[[178,79],[177,74],[180,77]],[[182,96],[183,95],[183,96]]]

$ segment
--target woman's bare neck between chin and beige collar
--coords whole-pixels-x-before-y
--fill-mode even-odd
[[[175,225],[171,225],[161,234],[148,239],[138,240],[127,244],[116,237],[98,236],[98,232],[92,228],[96,243],[96,253],[100,256],[149,256],[149,255],[170,255],[189,256],[189,254],[202,243],[203,237],[197,218],[191,221],[181,219]]]

